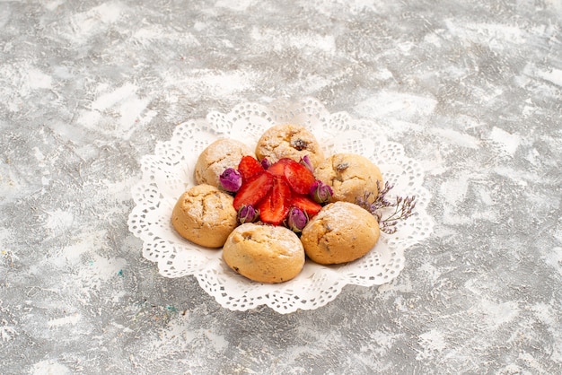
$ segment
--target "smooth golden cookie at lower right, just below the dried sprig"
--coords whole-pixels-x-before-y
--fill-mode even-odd
[[[325,205],[304,227],[304,251],[321,265],[347,263],[373,249],[381,232],[374,216],[358,205],[336,202]]]

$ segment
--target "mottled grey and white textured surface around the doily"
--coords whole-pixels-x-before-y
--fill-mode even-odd
[[[560,373],[562,2],[0,2],[0,368]],[[313,311],[221,308],[127,230],[139,160],[316,97],[424,167],[431,238]]]

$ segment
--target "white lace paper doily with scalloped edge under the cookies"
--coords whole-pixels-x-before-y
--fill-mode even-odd
[[[171,226],[171,210],[195,184],[194,167],[208,144],[229,137],[254,147],[268,127],[288,123],[311,130],[326,154],[359,153],[369,158],[380,167],[383,179],[394,184],[392,195],[416,196],[417,214],[400,222],[396,233],[381,233],[377,245],[355,262],[320,266],[307,260],[301,274],[291,281],[255,283],[226,266],[220,249],[205,249],[182,239]],[[388,283],[404,267],[404,250],[433,229],[426,213],[430,194],[422,186],[418,162],[404,154],[401,144],[389,142],[372,121],[351,118],[347,112],[330,114],[315,99],[241,103],[229,113],[210,112],[206,118],[178,126],[171,140],[156,144],[154,155],[143,157],[141,165],[142,179],[132,189],[136,206],[128,227],[143,240],[143,256],[158,263],[163,276],[195,276],[206,292],[230,310],[259,305],[280,313],[313,310],[335,299],[346,284]]]

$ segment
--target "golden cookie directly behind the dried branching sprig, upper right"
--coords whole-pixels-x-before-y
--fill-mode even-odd
[[[377,181],[382,186],[379,167],[355,153],[331,155],[314,170],[314,175],[333,189],[332,202],[356,203],[365,192],[373,193],[374,199],[379,193]]]

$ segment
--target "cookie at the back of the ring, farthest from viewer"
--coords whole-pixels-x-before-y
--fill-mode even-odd
[[[268,158],[271,162],[281,158],[300,161],[305,155],[310,157],[314,167],[324,159],[320,144],[304,126],[272,126],[261,135],[256,145],[256,156],[259,161],[264,158]]]

